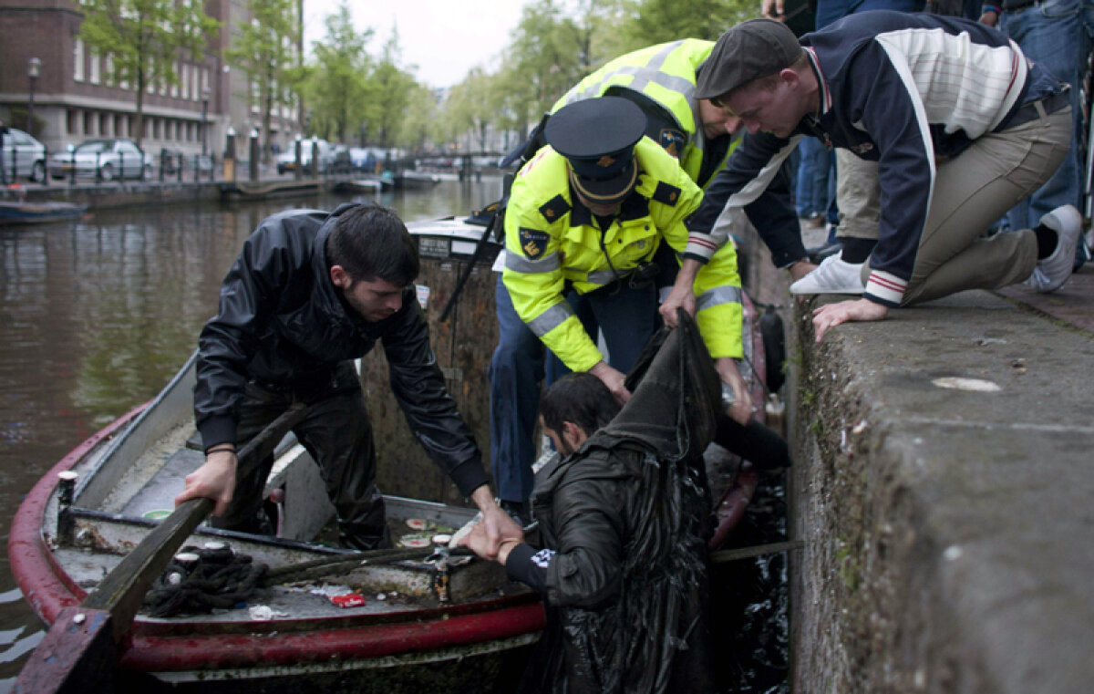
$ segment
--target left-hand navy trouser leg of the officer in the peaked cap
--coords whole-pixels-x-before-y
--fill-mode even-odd
[[[502,501],[524,504],[532,494],[534,436],[544,378],[544,345],[516,314],[498,275],[494,290],[498,346],[490,359],[490,471]]]

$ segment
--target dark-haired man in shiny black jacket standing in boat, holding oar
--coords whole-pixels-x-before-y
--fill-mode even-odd
[[[272,461],[237,470],[236,446],[294,402],[307,404],[296,438],[319,464],[342,542],[387,546],[375,449],[351,361],[380,340],[391,384],[430,458],[482,511],[492,552],[519,527],[493,501],[481,454],[445,390],[415,298],[417,246],[393,210],[342,205],[264,220],[220,290],[199,338],[194,414],[206,462],[175,501],[209,497],[214,524],[263,532]]]

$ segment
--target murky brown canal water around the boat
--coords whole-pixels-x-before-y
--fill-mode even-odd
[[[501,180],[487,176],[366,199],[379,199],[409,221],[467,213],[494,200],[500,190]],[[79,222],[0,227],[3,546],[11,519],[35,482],[82,440],[154,396],[195,349],[201,325],[216,312],[225,271],[263,218],[290,208],[333,209],[351,199],[149,206],[97,211]],[[2,562],[0,694],[5,694],[44,631],[11,576],[7,552]],[[743,578],[735,572],[726,578],[733,583],[775,581],[758,587],[763,603],[782,571],[781,566],[764,566],[749,563],[733,569],[743,570]],[[748,609],[746,617],[738,617],[755,621],[753,615],[771,611],[764,604],[750,606],[757,601],[748,595],[755,592],[724,595],[728,612]],[[781,617],[776,614],[759,626],[734,625],[735,633],[754,629],[766,634],[760,638],[778,641],[784,633],[784,595],[781,604]],[[734,690],[781,691],[782,675],[756,664],[756,646],[737,640],[726,646],[748,651],[735,656],[742,679]],[[779,657],[766,650],[761,659],[780,666]]]

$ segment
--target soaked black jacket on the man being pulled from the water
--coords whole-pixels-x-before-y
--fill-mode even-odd
[[[542,542],[517,545],[505,563],[547,608],[522,693],[713,691],[702,451],[721,391],[686,315],[656,339],[664,345],[640,357],[619,415],[536,475]]]

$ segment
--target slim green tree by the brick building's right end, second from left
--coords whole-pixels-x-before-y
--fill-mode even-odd
[[[269,163],[270,120],[276,108],[292,105],[291,85],[299,78],[294,69],[296,49],[294,0],[252,0],[251,22],[242,24],[224,51],[232,67],[247,76],[247,102],[258,107],[263,118],[263,163]]]

